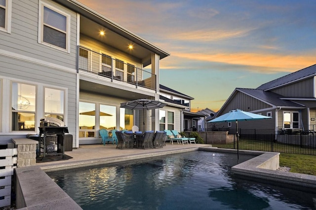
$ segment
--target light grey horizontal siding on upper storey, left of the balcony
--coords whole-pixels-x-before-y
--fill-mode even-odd
[[[50,0],[42,1],[71,16],[70,53],[38,43],[39,0],[12,0],[11,33],[0,31],[0,49],[76,69],[76,12]]]

